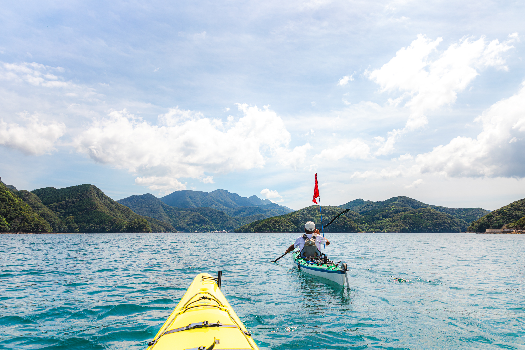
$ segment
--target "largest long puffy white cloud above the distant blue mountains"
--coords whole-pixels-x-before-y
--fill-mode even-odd
[[[177,179],[183,177],[213,183],[205,172],[261,168],[267,156],[284,154],[290,141],[281,118],[268,106],[237,107],[244,116],[227,124],[178,107],[159,115],[158,125],[126,110],[111,111],[108,118],[93,120],[73,143],[96,162],[140,174],[139,183],[150,189],[181,188]],[[300,161],[301,147],[296,150],[290,158]]]

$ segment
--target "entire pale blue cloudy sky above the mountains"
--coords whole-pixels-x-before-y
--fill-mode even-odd
[[[293,209],[525,197],[525,4],[13,2],[0,176]]]

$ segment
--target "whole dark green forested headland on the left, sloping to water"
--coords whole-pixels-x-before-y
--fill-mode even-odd
[[[93,185],[17,190],[0,180],[0,230],[11,232],[173,232],[135,214]]]

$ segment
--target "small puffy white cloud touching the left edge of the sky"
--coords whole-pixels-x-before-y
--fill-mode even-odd
[[[55,151],[55,142],[64,135],[66,125],[39,121],[38,115],[19,113],[24,125],[6,123],[0,119],[0,144],[22,151],[26,155],[43,155]]]

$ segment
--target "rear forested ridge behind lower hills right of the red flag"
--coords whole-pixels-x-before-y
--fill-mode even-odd
[[[393,197],[383,201],[371,201],[363,199],[355,199],[349,201],[346,204],[340,205],[340,208],[350,209],[356,213],[362,215],[370,215],[374,210],[380,210],[384,208],[406,208],[410,209],[421,209],[421,208],[432,208],[437,211],[442,211],[443,213],[454,216],[455,218],[464,220],[469,224],[470,222],[479,219],[480,217],[490,213],[490,210],[481,209],[481,208],[447,208],[437,205],[428,205],[422,201],[408,198],[405,196]],[[401,211],[398,211],[401,212]]]

